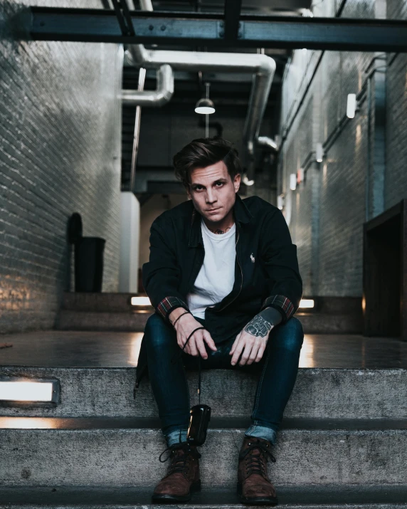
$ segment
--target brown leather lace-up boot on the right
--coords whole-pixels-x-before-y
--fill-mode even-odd
[[[265,439],[245,436],[239,453],[238,496],[243,504],[277,504],[275,488],[267,476],[267,460],[275,461],[272,444]]]

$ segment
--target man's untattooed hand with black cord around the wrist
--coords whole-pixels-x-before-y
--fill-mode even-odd
[[[194,316],[190,313],[182,316],[176,322],[174,327],[176,330],[176,342],[180,348],[184,347],[187,338],[191,332],[196,329],[196,327],[202,327],[202,324],[198,322],[198,320],[195,320]],[[206,353],[205,342],[214,352],[218,350],[215,342],[209,334],[209,331],[206,329],[199,329],[196,330],[194,335],[189,338],[189,342],[184,348],[184,352],[189,355],[193,355],[194,357],[201,355],[202,359],[207,359],[208,354]]]

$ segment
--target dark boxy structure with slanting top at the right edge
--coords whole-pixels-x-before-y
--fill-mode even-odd
[[[407,340],[406,203],[364,224],[364,335]]]

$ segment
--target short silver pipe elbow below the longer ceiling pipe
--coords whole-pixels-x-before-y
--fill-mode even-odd
[[[174,95],[174,73],[168,64],[157,69],[156,90],[122,90],[120,99],[124,105],[161,107]]]

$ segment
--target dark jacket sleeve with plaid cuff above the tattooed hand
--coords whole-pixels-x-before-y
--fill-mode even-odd
[[[274,209],[265,218],[261,236],[261,258],[268,274],[268,297],[260,311],[271,306],[280,311],[282,323],[286,323],[300,306],[302,278],[297,246],[291,241],[290,230],[280,209]]]

